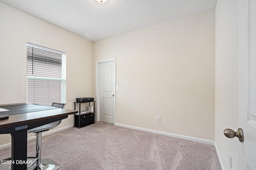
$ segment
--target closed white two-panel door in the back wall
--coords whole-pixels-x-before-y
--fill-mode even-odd
[[[98,62],[99,121],[115,123],[115,61]]]

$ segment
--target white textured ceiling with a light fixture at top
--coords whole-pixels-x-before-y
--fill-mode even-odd
[[[217,0],[0,0],[92,42],[214,9]]]

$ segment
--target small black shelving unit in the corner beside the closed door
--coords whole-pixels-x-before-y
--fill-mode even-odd
[[[86,113],[81,113],[81,104],[89,104],[93,102],[93,112],[86,112]],[[75,123],[74,123],[74,127],[85,127],[88,125],[92,125],[95,123],[94,121],[94,115],[95,115],[95,101],[91,101],[91,102],[74,102],[74,107],[76,110],[76,104],[79,104],[79,110],[78,113],[74,114],[75,117]]]

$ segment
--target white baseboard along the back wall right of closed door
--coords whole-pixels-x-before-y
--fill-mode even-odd
[[[130,125],[123,125],[123,124],[120,124],[120,123],[115,123],[115,125],[116,126],[120,126],[120,127],[126,127],[126,128],[129,128],[129,129],[135,129],[135,130],[139,130],[139,131],[156,133],[156,134],[160,134],[160,135],[166,135],[166,136],[170,136],[170,137],[186,139],[186,140],[189,140],[189,141],[194,141],[194,142],[200,142],[200,143],[205,143],[205,144],[209,144],[209,145],[214,145],[214,141],[210,141],[210,140],[206,140],[206,139],[200,139],[200,138],[189,137],[189,136],[184,136],[184,135],[177,135],[177,134],[174,134],[174,133],[167,133],[167,132],[162,132],[162,131],[155,131],[155,130],[145,129],[145,128],[141,128],[141,127],[135,127],[135,126],[130,126]]]

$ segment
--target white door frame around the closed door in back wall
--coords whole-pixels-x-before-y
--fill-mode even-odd
[[[96,121],[100,121],[100,64],[114,61],[114,125],[116,125],[116,58],[96,61]]]

